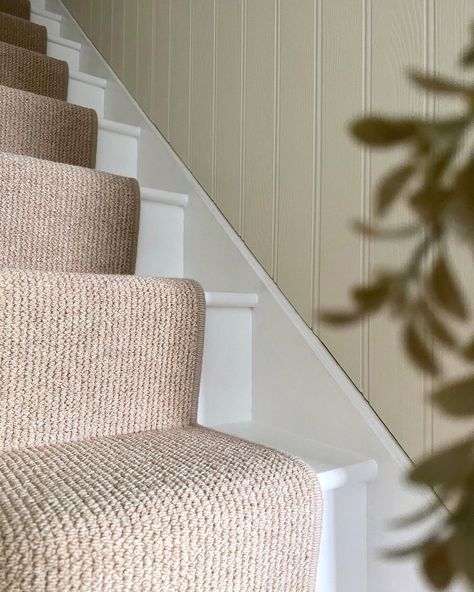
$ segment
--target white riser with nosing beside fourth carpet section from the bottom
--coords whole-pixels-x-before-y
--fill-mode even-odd
[[[107,173],[137,177],[138,138],[134,125],[99,119],[96,168]]]

